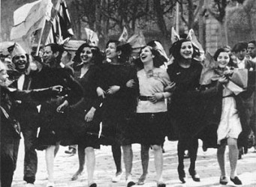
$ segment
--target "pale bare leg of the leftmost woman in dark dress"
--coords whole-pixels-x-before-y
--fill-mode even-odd
[[[55,152],[56,146],[55,145],[50,145],[47,147],[45,150],[45,159],[47,163],[47,173],[48,173],[48,180],[51,183],[54,183],[54,152]]]

